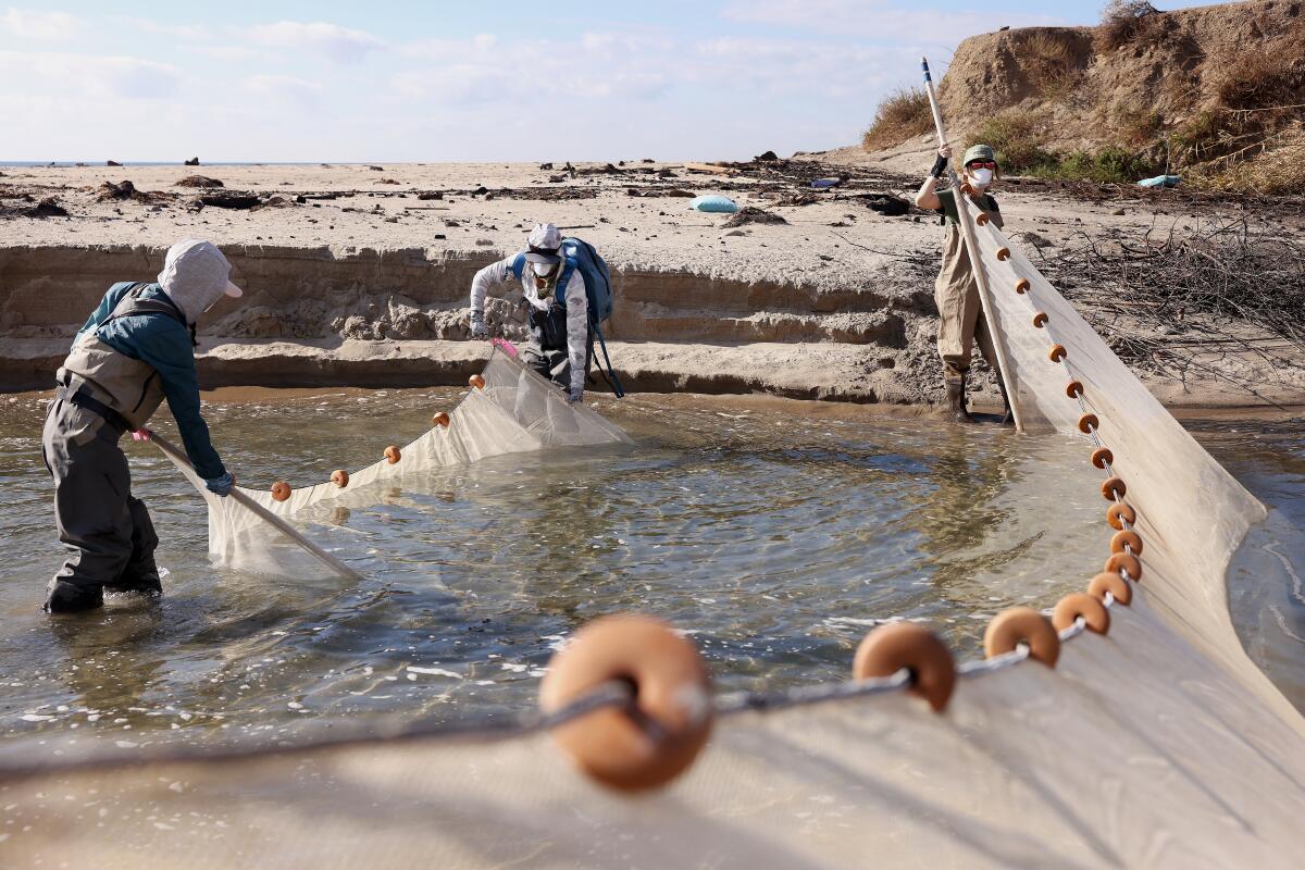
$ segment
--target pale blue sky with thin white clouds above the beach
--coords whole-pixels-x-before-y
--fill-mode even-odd
[[[921,53],[942,69],[968,34],[1099,17],[1098,0],[0,0],[0,160],[788,154],[853,142]]]

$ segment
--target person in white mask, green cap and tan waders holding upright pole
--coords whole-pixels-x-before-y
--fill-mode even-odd
[[[970,372],[972,346],[977,340],[983,357],[988,360],[993,372],[997,372],[997,386],[1006,402],[1002,423],[1007,423],[1010,420],[1010,402],[1001,381],[992,333],[983,316],[983,304],[979,301],[979,283],[970,263],[970,252],[966,250],[964,236],[958,223],[955,196],[951,190],[936,189],[950,159],[951,146],[942,145],[929,177],[924,180],[920,192],[915,196],[915,203],[919,207],[941,211],[942,223],[946,227],[942,241],[942,269],[933,283],[933,299],[938,304],[938,356],[942,357],[947,408],[958,423],[974,421],[966,407],[966,376]],[[970,184],[975,190],[971,202],[985,211],[993,224],[1000,228],[1002,226],[1001,210],[997,207],[997,201],[988,193],[998,171],[997,158],[993,155],[992,147],[988,145],[971,146],[966,151],[962,167],[962,183]]]

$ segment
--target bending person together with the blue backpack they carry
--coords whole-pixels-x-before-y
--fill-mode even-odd
[[[471,279],[471,337],[489,338],[485,296],[493,286],[517,283],[527,305],[530,342],[522,360],[566,390],[572,402],[585,398],[585,378],[596,339],[607,363],[612,391],[620,381],[607,359],[602,322],[612,313],[612,283],[607,263],[591,244],[564,239],[551,223],[535,224],[526,250],[491,263]]]

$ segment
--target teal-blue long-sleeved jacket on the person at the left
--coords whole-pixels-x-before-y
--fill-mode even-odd
[[[133,282],[120,282],[110,287],[86,325],[77,330],[77,338],[95,330],[95,338],[119,353],[151,365],[159,373],[167,406],[176,417],[176,428],[181,433],[181,442],[185,443],[185,453],[191,457],[196,473],[206,480],[221,477],[227,470],[222,466],[218,451],[213,449],[207,424],[200,416],[200,378],[194,369],[194,348],[191,344],[189,330],[176,320],[162,314],[133,314],[100,326],[132,287]],[[166,293],[158,284],[150,284],[142,297],[166,297]]]

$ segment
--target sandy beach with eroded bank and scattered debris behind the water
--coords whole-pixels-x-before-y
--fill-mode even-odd
[[[607,335],[629,389],[933,404],[941,230],[904,207],[917,184],[908,171],[928,155],[924,138],[882,155],[846,149],[715,170],[645,159],[7,167],[0,387],[50,383],[104,288],[153,279],[167,245],[188,236],[222,245],[247,290],[201,325],[205,387],[465,382],[488,350],[468,340],[471,277],[551,220],[612,266]],[[838,176],[833,189],[810,185]],[[194,187],[213,180],[221,187]],[[731,215],[689,207],[702,193],[782,223],[731,226]],[[998,196],[1011,237],[1044,257],[1083,239],[1190,228],[1220,210],[1249,210],[1266,232],[1301,224],[1272,207],[1141,192],[1094,200],[1017,181]],[[42,201],[67,217],[27,217]],[[514,301],[489,312],[509,337],[522,334]],[[1099,330],[1155,327],[1081,310]],[[1278,364],[1285,343],[1242,331],[1253,351],[1202,344],[1198,330],[1180,351],[1190,365],[1151,367],[1147,385],[1173,407],[1305,403],[1305,372]],[[979,389],[980,403],[996,404],[990,377]]]

